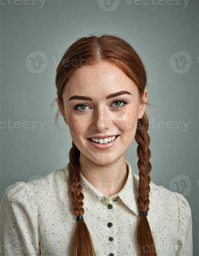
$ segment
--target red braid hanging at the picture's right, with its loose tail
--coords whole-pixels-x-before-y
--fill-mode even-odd
[[[137,203],[141,211],[149,210],[149,192],[150,192],[150,172],[152,169],[149,158],[151,151],[149,150],[150,137],[147,132],[149,128],[149,120],[144,113],[141,119],[138,119],[135,140],[138,143],[138,169],[139,169],[139,193]],[[136,243],[141,249],[139,256],[157,256],[152,232],[149,226],[147,215],[142,214],[139,217],[139,222],[136,228]],[[147,246],[147,248],[145,248]]]

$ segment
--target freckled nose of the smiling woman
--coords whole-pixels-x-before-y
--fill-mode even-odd
[[[93,121],[92,121],[92,129],[97,129],[99,131],[103,131],[104,129],[109,129],[111,124],[111,116],[110,113],[106,109],[98,109],[94,111]]]

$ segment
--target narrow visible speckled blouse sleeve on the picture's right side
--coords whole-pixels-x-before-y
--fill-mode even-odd
[[[178,227],[175,256],[193,256],[191,208],[183,195],[178,192],[173,193],[176,196],[178,205]]]

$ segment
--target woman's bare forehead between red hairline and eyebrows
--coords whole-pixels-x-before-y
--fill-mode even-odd
[[[97,100],[120,90],[137,94],[136,84],[120,68],[112,63],[100,62],[76,69],[66,83],[64,98],[84,95]]]

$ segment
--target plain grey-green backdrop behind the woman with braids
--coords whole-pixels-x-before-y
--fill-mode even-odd
[[[66,166],[71,136],[63,119],[63,130],[53,124],[56,103],[50,108],[56,98],[57,63],[79,37],[116,34],[131,43],[147,69],[153,105],[147,108],[151,180],[189,201],[198,255],[198,1],[116,0],[111,5],[108,0],[109,7],[96,0],[26,3],[0,4],[0,120],[5,121],[0,129],[0,198],[16,181]],[[40,66],[37,55],[44,62]],[[45,124],[43,130],[39,122]],[[134,141],[127,160],[138,174],[136,147]]]

